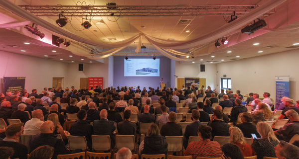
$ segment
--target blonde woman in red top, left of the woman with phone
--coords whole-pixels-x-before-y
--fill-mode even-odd
[[[229,134],[231,139],[230,142],[240,148],[244,157],[255,155],[255,151],[252,149],[252,147],[249,144],[245,143],[244,135],[238,127],[230,127]]]

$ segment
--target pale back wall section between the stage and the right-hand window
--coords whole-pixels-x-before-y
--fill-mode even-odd
[[[175,75],[177,78],[205,78],[206,86],[210,85],[212,90],[215,88],[219,92],[216,83],[216,65],[205,64],[205,72],[200,72],[200,64],[181,64],[175,63]]]

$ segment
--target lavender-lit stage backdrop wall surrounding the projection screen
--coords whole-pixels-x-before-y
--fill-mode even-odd
[[[129,59],[141,59],[152,57],[129,57]],[[160,59],[160,77],[124,77],[124,57],[115,56],[114,57],[114,80],[113,86],[138,86],[141,88],[149,86],[156,88],[159,86],[159,81],[163,78],[165,86],[170,87],[170,59],[166,57],[157,57]]]

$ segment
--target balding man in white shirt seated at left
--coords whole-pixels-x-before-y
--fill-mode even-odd
[[[43,123],[42,110],[36,109],[32,111],[32,119],[28,120],[24,125],[24,134],[38,134],[39,127]]]

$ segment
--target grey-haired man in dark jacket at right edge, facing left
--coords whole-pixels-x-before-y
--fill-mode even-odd
[[[285,124],[285,126],[280,128],[279,130],[274,131],[274,133],[276,134],[278,139],[289,142],[292,137],[299,132],[299,115],[293,109],[288,110],[285,114],[290,122]]]

